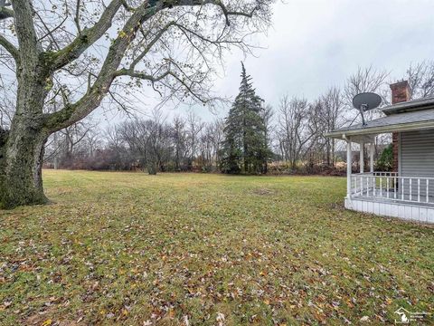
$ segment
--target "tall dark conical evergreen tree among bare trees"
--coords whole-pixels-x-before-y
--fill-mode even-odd
[[[225,173],[264,173],[270,150],[263,119],[263,100],[256,94],[241,62],[240,93],[224,128],[221,169]]]

